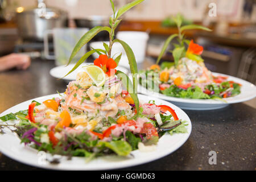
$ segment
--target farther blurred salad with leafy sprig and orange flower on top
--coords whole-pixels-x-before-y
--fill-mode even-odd
[[[204,60],[200,56],[203,53],[203,47],[195,44],[193,40],[184,38],[184,30],[210,31],[209,28],[196,24],[181,26],[180,14],[173,19],[179,33],[171,35],[166,40],[156,64],[151,65],[147,70],[139,71],[139,84],[148,90],[180,98],[218,99],[225,102],[222,98],[240,94],[241,85],[229,81],[226,76],[213,75],[205,67]],[[174,44],[175,48],[170,51],[174,62],[163,62],[159,66],[160,59],[174,38],[177,38],[179,42],[179,44]],[[156,87],[158,87],[157,90]]]

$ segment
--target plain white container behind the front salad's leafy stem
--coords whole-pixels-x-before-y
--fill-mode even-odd
[[[137,63],[142,63],[145,59],[147,41],[148,41],[147,32],[141,31],[119,31],[117,32],[117,39],[123,40],[126,42],[131,49]]]

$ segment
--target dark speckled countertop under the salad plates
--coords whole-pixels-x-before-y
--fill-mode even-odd
[[[54,61],[32,60],[26,71],[0,73],[0,113],[20,102],[64,92],[67,85],[49,71]],[[210,111],[184,110],[192,122],[187,142],[172,154],[123,170],[255,170],[256,109],[232,104]],[[216,151],[217,164],[209,164],[209,152]],[[0,170],[38,170],[1,154]]]

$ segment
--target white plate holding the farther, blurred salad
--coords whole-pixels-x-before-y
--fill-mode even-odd
[[[138,85],[138,93],[146,94],[148,96],[154,96],[154,97],[166,100],[166,101],[171,101],[172,104],[180,107],[181,109],[189,109],[189,110],[220,109],[222,107],[228,106],[229,104],[248,101],[248,100],[251,100],[252,98],[256,97],[256,86],[254,84],[251,84],[250,82],[242,80],[240,78],[229,76],[229,75],[224,75],[221,73],[213,73],[213,75],[228,76],[228,80],[242,84],[241,93],[234,97],[224,98],[224,100],[226,100],[226,102],[218,101],[218,100],[211,100],[211,99],[204,100],[204,99],[171,97],[171,96],[166,96],[164,94],[152,92],[150,90],[147,90],[146,88],[144,88],[141,85]]]

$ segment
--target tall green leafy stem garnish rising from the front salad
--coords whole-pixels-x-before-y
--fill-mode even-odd
[[[69,71],[67,73],[67,75],[69,75],[70,73],[75,71],[75,69],[77,69],[79,67],[79,65],[81,65],[90,55],[92,55],[95,52],[97,52],[99,55],[101,55],[102,53],[104,55],[107,55],[109,58],[114,59],[115,63],[118,65],[119,60],[121,59],[122,53],[120,53],[120,55],[118,55],[117,57],[114,58],[114,56],[111,55],[111,51],[112,51],[112,47],[113,47],[114,43],[117,42],[117,43],[121,44],[123,49],[125,49],[125,53],[126,53],[128,61],[129,61],[129,65],[130,65],[130,71],[134,75],[133,76],[133,82],[131,82],[129,77],[121,71],[117,71],[116,75],[117,75],[118,78],[121,78],[120,80],[123,82],[123,86],[125,86],[127,91],[130,93],[131,98],[133,98],[134,105],[135,105],[137,110],[139,110],[139,99],[138,99],[138,96],[137,96],[137,81],[136,81],[137,79],[135,78],[136,74],[138,73],[137,62],[136,62],[133,50],[130,48],[130,46],[127,43],[125,43],[123,40],[114,39],[114,32],[115,32],[115,29],[117,28],[118,24],[122,20],[122,19],[119,19],[119,18],[124,13],[126,13],[126,11],[130,10],[132,7],[138,5],[139,3],[143,2],[143,1],[144,0],[134,0],[134,1],[126,4],[125,6],[122,6],[118,10],[116,10],[115,7],[114,7],[113,1],[110,0],[110,3],[112,5],[112,10],[113,10],[114,14],[113,14],[113,16],[110,16],[110,18],[109,18],[109,26],[104,26],[104,27],[96,26],[96,27],[90,29],[88,32],[86,32],[81,37],[79,42],[77,42],[76,46],[73,48],[71,56],[69,57],[68,64],[71,63],[71,61],[73,60],[73,58],[75,57],[77,52],[79,52],[79,50],[86,43],[88,43],[90,40],[92,40],[92,38],[94,36],[96,36],[98,33],[100,33],[101,31],[107,31],[109,33],[109,45],[107,45],[106,43],[103,43],[103,46],[104,46],[105,49],[94,49],[94,48],[92,48],[92,50],[86,52],[85,55],[82,56],[77,61],[77,63],[71,69],[71,71]],[[65,75],[65,76],[67,76],[67,75]],[[138,113],[139,112],[137,112],[134,115],[133,119],[136,119],[138,117]]]

